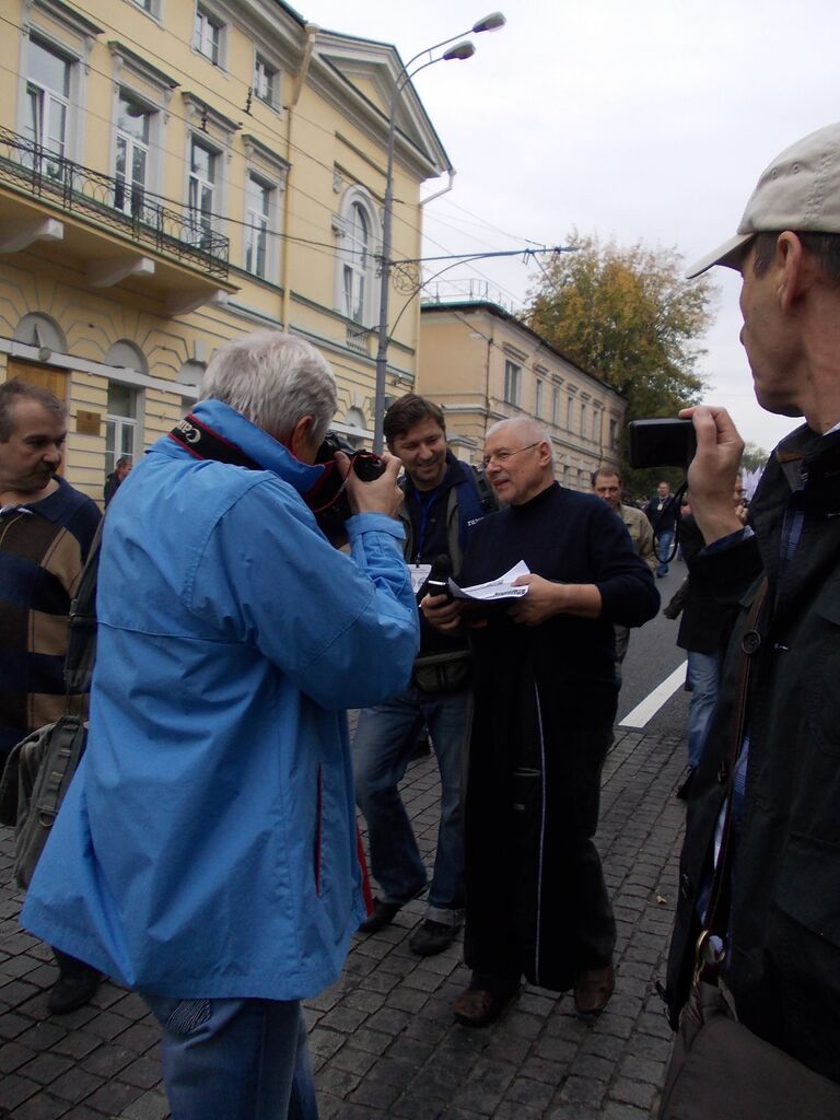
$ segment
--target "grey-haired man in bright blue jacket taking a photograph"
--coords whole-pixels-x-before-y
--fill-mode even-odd
[[[87,750],[24,924],[143,995],[176,1120],[310,1120],[299,1001],[364,914],[345,709],[418,645],[399,460],[348,474],[346,556],[305,502],[336,407],[318,352],[241,338],[204,390],[109,511]]]

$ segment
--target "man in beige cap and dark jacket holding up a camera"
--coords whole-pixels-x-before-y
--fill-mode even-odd
[[[736,236],[690,276],[713,264],[743,278],[740,338],[758,402],[805,422],[771,456],[750,529],[732,506],[744,447],[732,421],[713,407],[682,413],[698,442],[689,485],[706,549],[696,563],[743,609],[691,790],[669,1009],[675,1026],[722,851],[728,889],[712,924],[738,1018],[840,1082],[840,123],[771,164]]]

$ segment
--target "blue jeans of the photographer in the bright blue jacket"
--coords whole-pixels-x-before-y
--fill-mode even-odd
[[[318,1120],[298,1000],[140,995],[164,1028],[172,1120]]]

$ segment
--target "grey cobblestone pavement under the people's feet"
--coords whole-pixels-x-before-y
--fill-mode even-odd
[[[407,906],[356,937],[342,979],[307,1004],[323,1120],[645,1120],[654,1114],[671,1033],[654,983],[663,974],[683,809],[679,738],[619,732],[604,773],[598,846],[618,923],[617,984],[586,1021],[570,997],[526,987],[497,1023],[455,1023],[468,973],[457,943],[417,958]],[[437,832],[432,759],[403,786],[427,861]],[[0,1117],[164,1120],[158,1030],[142,1001],[104,983],[92,1006],[47,1014],[49,950],[17,923],[12,837],[0,829]]]

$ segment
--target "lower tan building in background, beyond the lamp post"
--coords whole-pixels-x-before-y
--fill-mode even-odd
[[[554,476],[589,491],[601,464],[619,464],[627,405],[504,308],[488,300],[424,302],[418,392],[446,410],[456,454],[482,457],[497,420],[542,421],[554,448]]]

